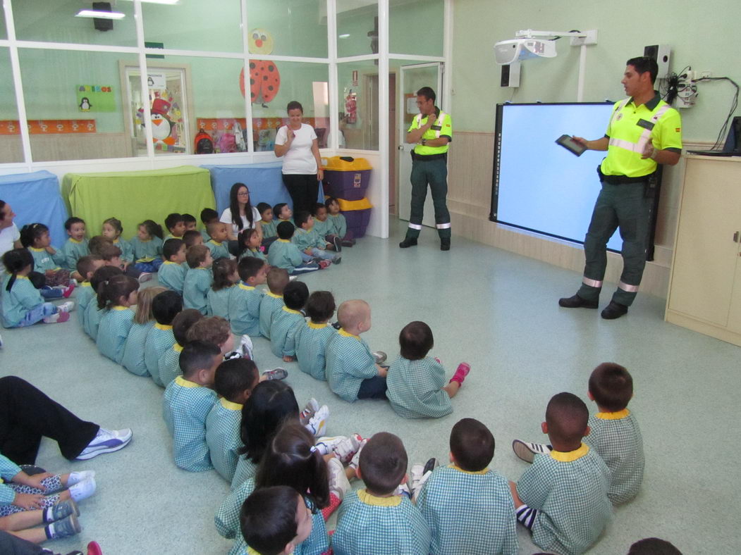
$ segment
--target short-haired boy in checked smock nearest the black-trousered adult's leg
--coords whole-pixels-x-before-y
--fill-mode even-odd
[[[183,375],[165,389],[162,416],[173,436],[175,464],[190,472],[213,468],[206,443],[206,417],[216,402],[213,374],[222,352],[213,343],[193,341],[180,354]]]

